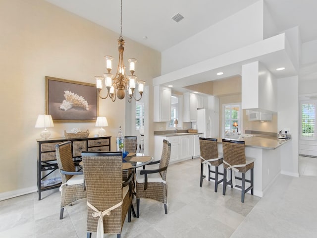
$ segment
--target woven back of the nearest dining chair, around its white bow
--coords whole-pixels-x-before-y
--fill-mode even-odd
[[[122,201],[122,152],[82,152],[87,202],[99,211]],[[87,207],[87,231],[97,231],[99,217]],[[122,228],[122,206],[104,216],[104,232],[117,233]]]

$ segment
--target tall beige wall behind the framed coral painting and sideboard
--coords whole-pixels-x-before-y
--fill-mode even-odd
[[[95,83],[94,76],[106,71],[103,57],[111,55],[117,60],[119,35],[44,0],[1,0],[0,29],[1,198],[37,190],[36,139],[42,129],[34,125],[37,116],[45,113],[45,76]],[[153,105],[152,78],[160,73],[160,53],[127,38],[125,41],[125,61],[138,60],[136,75],[146,81],[147,103]],[[106,134],[112,136],[111,149],[119,125],[124,129],[131,126],[126,123],[131,116],[125,111],[133,105],[123,100],[100,101],[100,115],[109,123]],[[147,117],[153,121],[153,107]],[[89,129],[93,135],[99,129],[94,125],[55,123],[50,130],[52,137],[61,137],[64,129],[73,127]],[[150,123],[151,134],[152,127]],[[153,153],[151,140],[149,146]]]

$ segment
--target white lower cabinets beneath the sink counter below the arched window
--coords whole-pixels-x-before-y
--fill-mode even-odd
[[[194,135],[162,136],[155,135],[155,160],[159,160],[162,153],[163,139],[171,144],[169,163],[192,159],[194,156]]]

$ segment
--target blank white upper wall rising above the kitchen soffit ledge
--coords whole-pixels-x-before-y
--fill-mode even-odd
[[[263,0],[162,52],[161,74],[263,40]]]

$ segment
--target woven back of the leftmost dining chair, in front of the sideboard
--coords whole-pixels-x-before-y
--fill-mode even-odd
[[[65,170],[68,172],[75,172],[75,164],[73,161],[73,155],[71,152],[71,141],[67,140],[62,143],[55,145],[55,151],[56,151],[56,161],[58,168],[60,170]],[[72,175],[62,175],[61,180],[62,183],[67,182],[68,179],[73,177]]]

